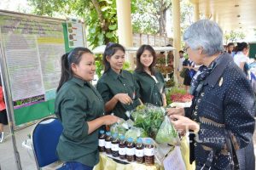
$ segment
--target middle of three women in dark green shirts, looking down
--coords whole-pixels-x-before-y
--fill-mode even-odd
[[[108,43],[104,54],[104,74],[99,79],[96,89],[102,94],[105,111],[125,120],[125,111],[131,111],[140,105],[138,86],[131,72],[123,70],[125,48],[118,44]]]

